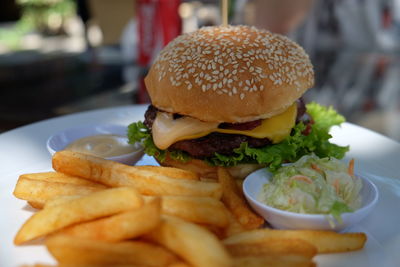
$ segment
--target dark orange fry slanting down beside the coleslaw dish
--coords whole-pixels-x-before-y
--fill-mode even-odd
[[[264,219],[251,210],[243,193],[237,187],[235,179],[222,167],[218,167],[218,181],[223,188],[222,202],[238,222],[247,230],[259,228],[264,223]]]

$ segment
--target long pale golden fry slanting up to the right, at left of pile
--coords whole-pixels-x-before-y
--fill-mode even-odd
[[[31,216],[18,231],[14,244],[20,245],[74,223],[109,216],[143,205],[134,188],[105,189],[71,201],[44,208]]]

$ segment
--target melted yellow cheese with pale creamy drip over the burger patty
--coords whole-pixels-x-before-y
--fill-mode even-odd
[[[291,105],[285,112],[264,119],[260,126],[252,130],[220,129],[218,122],[204,122],[190,117],[174,120],[172,114],[158,112],[152,126],[154,144],[160,149],[181,140],[190,140],[206,136],[211,132],[242,134],[255,138],[268,138],[279,143],[290,134],[296,122],[297,105]]]

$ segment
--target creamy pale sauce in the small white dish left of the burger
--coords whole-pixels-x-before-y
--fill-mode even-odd
[[[65,149],[108,158],[129,154],[137,150],[128,144],[126,137],[115,134],[99,134],[80,138],[70,143]]]

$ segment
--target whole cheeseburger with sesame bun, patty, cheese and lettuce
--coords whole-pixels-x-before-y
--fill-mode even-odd
[[[151,105],[128,127],[131,143],[164,166],[235,177],[305,154],[342,158],[329,142],[344,118],[305,104],[314,84],[308,55],[285,36],[248,26],[204,27],[178,36],[145,78]]]

